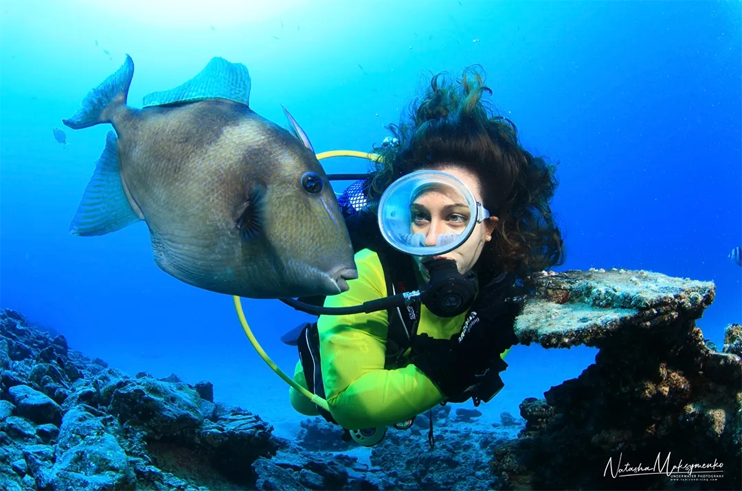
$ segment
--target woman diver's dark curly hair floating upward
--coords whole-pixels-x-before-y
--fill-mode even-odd
[[[518,144],[515,124],[484,100],[482,67],[461,79],[433,76],[423,97],[410,103],[407,121],[387,127],[398,145],[376,147],[381,155],[368,183],[373,201],[395,179],[436,164],[456,164],[479,176],[483,205],[499,222],[480,257],[480,267],[528,278],[564,261],[562,235],[549,201],[557,189],[556,165]]]

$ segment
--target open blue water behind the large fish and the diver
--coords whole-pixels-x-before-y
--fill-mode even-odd
[[[297,118],[315,150],[370,150],[430,73],[482,64],[492,100],[533,153],[559,161],[560,270],[623,267],[714,281],[698,322],[720,344],[742,321],[742,4],[739,1],[0,1],[0,306],[134,374],[207,379],[215,398],[279,432],[300,419],[240,330],[232,298],[159,270],[145,224],[68,234],[101,125],[52,135],[82,96],[134,59],[129,101],[190,79],[212,56],[246,64],[251,106]],[[195,2],[191,2],[195,3]],[[245,7],[243,4],[265,4]],[[328,172],[363,161],[325,161]],[[347,184],[347,183],[345,183]],[[336,191],[341,191],[338,186]],[[310,319],[243,301],[268,353]],[[572,378],[594,350],[516,347],[496,420]]]

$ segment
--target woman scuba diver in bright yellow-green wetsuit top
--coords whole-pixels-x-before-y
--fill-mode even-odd
[[[491,93],[479,67],[434,76],[409,119],[388,127],[372,172],[338,198],[358,278],[300,300],[342,312],[421,293],[320,314],[283,336],[298,346],[293,380],[326,399],[324,409],[292,388],[292,407],[340,425],[345,439],[371,446],[438,404],[490,401],[529,275],[562,264],[555,166],[519,145],[515,125],[485,104]]]

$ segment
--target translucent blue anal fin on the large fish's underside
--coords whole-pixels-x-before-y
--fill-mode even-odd
[[[70,233],[73,236],[102,236],[139,220],[121,184],[116,133],[109,131],[105,150],[70,224]]]

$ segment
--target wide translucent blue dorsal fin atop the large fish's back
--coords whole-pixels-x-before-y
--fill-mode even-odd
[[[251,86],[245,65],[216,56],[193,79],[174,89],[148,94],[143,104],[150,107],[221,98],[249,106]]]

